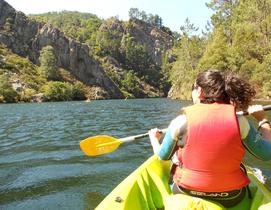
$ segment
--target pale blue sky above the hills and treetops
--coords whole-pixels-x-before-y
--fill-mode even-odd
[[[6,0],[16,10],[26,14],[52,11],[79,11],[96,14],[100,18],[119,16],[128,19],[132,7],[144,10],[147,14],[158,14],[163,24],[173,31],[179,31],[186,18],[200,30],[212,15],[205,6],[210,0]]]

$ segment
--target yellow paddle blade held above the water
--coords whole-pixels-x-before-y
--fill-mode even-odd
[[[82,140],[80,148],[88,156],[97,156],[115,151],[121,143],[112,136],[93,136]]]

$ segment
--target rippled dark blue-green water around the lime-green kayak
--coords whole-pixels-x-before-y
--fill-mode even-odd
[[[152,149],[147,138],[86,157],[80,140],[164,128],[190,102],[168,99],[0,105],[0,209],[94,209]],[[270,162],[247,156],[271,186]],[[271,187],[269,187],[271,189]]]

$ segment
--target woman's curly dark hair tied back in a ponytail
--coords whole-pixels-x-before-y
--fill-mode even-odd
[[[199,73],[196,85],[203,90],[201,103],[233,103],[241,110],[247,109],[256,94],[254,88],[244,79],[233,73],[225,74],[216,69]]]

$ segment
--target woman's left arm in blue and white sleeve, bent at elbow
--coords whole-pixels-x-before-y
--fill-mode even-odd
[[[150,141],[153,147],[154,154],[162,160],[169,160],[173,155],[177,141],[185,133],[186,130],[186,116],[180,115],[171,121],[165,137],[160,144],[161,134],[159,129],[155,128],[149,131]]]

